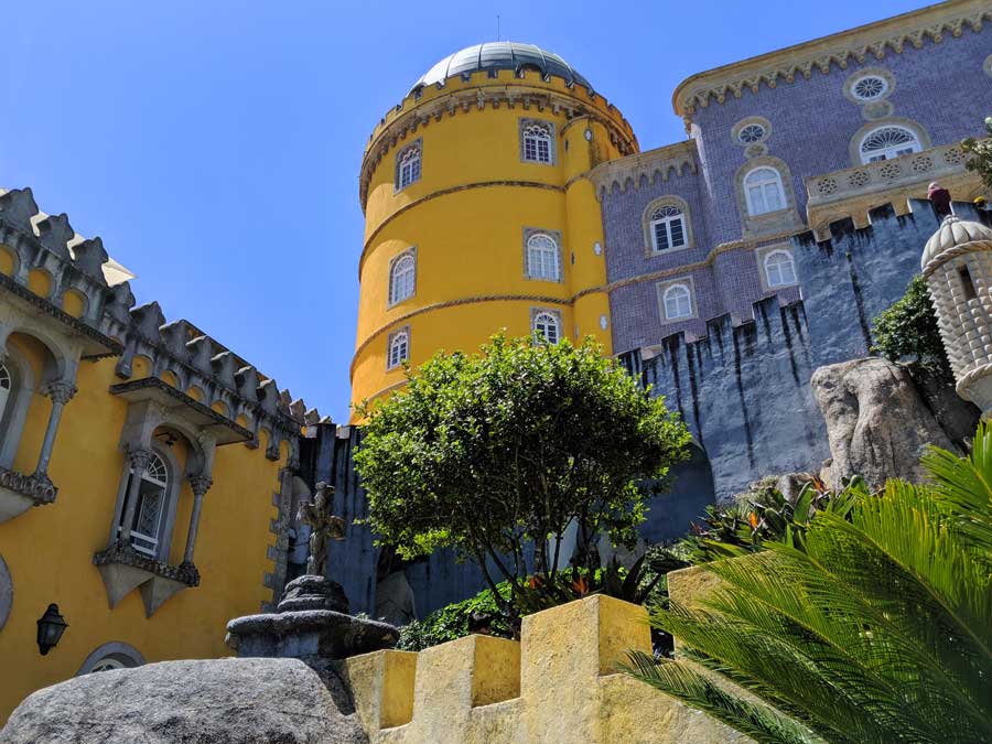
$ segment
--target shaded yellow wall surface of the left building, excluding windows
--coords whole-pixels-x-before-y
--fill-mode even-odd
[[[43,353],[21,335],[9,342],[37,374]],[[277,516],[279,462],[242,444],[217,449],[213,487],[207,492],[194,562],[200,586],[185,589],[145,618],[139,591],[110,610],[93,556],[107,546],[125,456],[118,448],[127,403],[109,395],[120,380],[114,359],[83,362],[78,392],[66,407],[48,474],[58,487],[54,504],[29,509],[0,524],[0,553],[13,580],[13,606],[0,630],[0,725],[30,692],[73,677],[86,657],[108,641],[137,648],[148,661],[227,656],[227,621],[257,613],[271,600],[263,575],[273,570],[266,546],[274,542],[269,520]],[[36,464],[51,402],[35,395],[29,409],[14,470]],[[182,441],[174,445],[185,460]],[[172,535],[171,562],[182,560],[193,495],[183,485]],[[35,621],[55,602],[68,622],[58,646],[41,656]]]

